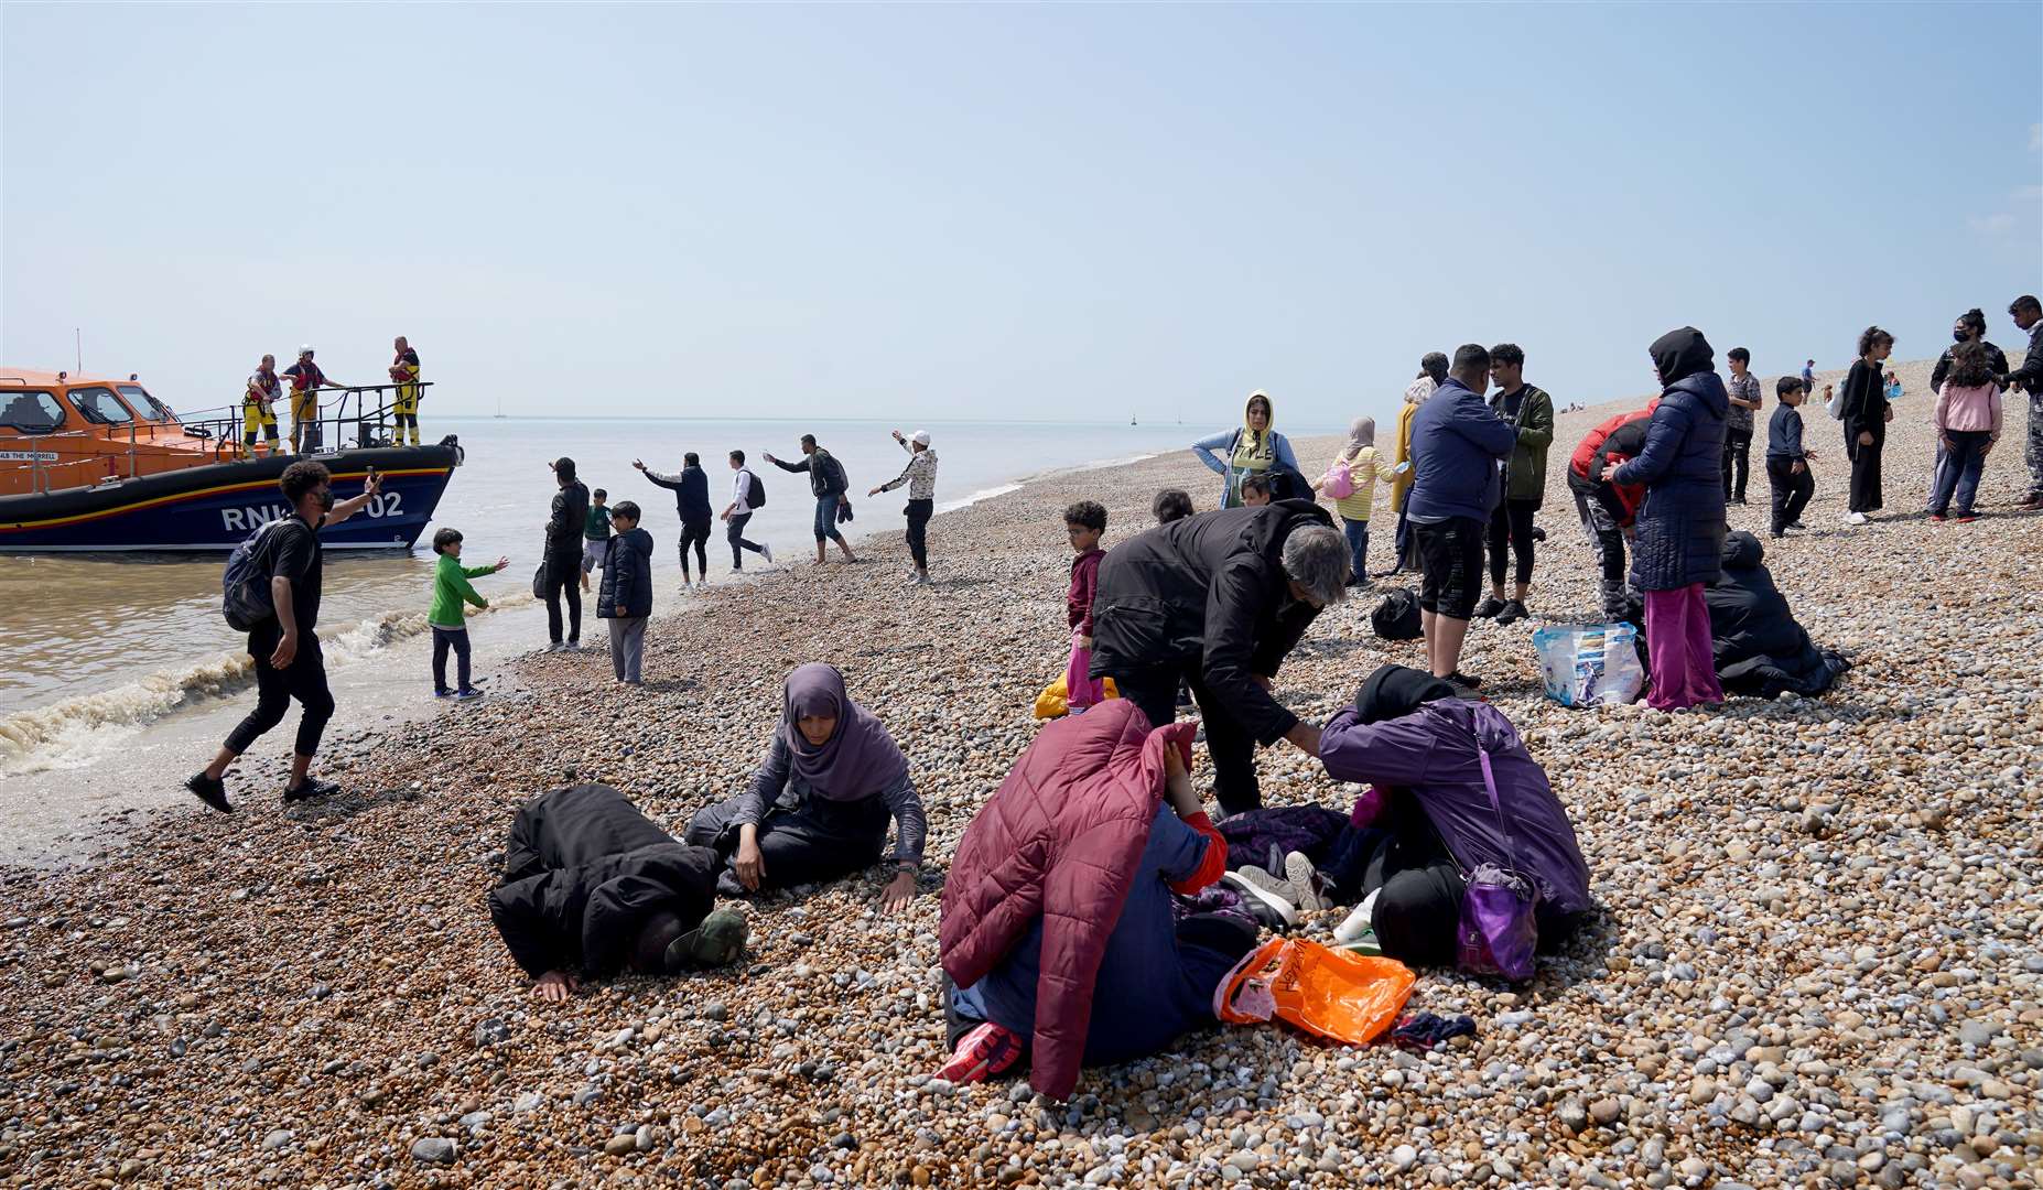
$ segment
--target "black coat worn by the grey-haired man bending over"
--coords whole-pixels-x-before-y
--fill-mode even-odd
[[[1305,500],[1220,508],[1107,551],[1093,592],[1093,678],[1197,663],[1209,692],[1261,743],[1297,725],[1254,678],[1275,678],[1320,608],[1291,598],[1283,543],[1334,518]]]

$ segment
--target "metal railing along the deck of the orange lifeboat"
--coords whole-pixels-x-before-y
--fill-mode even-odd
[[[431,388],[421,382],[419,388]],[[339,392],[331,406],[321,400],[319,418],[306,423],[311,431],[302,439],[304,453],[319,455],[355,447],[394,447],[392,437],[396,384],[368,384],[349,388],[327,388],[325,394]],[[280,423],[290,416],[288,402],[280,410]],[[353,431],[353,441],[345,433]],[[331,435],[329,435],[331,431]],[[237,459],[262,457],[270,451],[268,439],[251,451],[243,441],[241,406],[221,406],[219,410],[198,410],[196,416],[178,414],[176,423],[129,420],[82,431],[27,433],[0,429],[0,474],[29,472],[29,490],[49,494],[57,488],[90,488],[108,480],[133,480],[141,474],[163,472],[165,455],[151,453],[147,472],[139,463],[145,447],[163,439],[178,443],[176,467],[204,467],[210,463],[231,463]],[[127,451],[106,451],[98,443],[127,441]],[[196,439],[196,441],[194,441]],[[94,445],[86,445],[94,443]],[[0,484],[4,492],[8,484]]]

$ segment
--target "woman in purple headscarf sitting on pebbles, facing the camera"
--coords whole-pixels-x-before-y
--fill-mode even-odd
[[[878,863],[889,816],[897,825],[895,878],[881,892],[881,910],[899,912],[921,870],[921,796],[899,745],[844,690],[844,674],[811,661],[780,688],[780,725],[752,786],[697,810],[682,839],[713,849],[717,892],[740,896]]]

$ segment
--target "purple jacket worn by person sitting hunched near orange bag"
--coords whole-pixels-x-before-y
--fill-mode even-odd
[[[1502,823],[1489,806],[1477,749],[1489,753]],[[1369,725],[1350,706],[1320,735],[1320,763],[1336,782],[1412,790],[1463,872],[1498,863],[1538,882],[1542,912],[1589,908],[1589,865],[1581,861],[1567,810],[1495,706],[1438,698]],[[1516,847],[1504,843],[1504,825]]]

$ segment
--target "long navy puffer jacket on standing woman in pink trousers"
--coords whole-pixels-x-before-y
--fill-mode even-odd
[[[1728,410],[1730,394],[1714,371],[1675,382],[1647,423],[1638,457],[1612,472],[1614,484],[1647,486],[1632,541],[1638,590],[1679,590],[1722,574]]]

